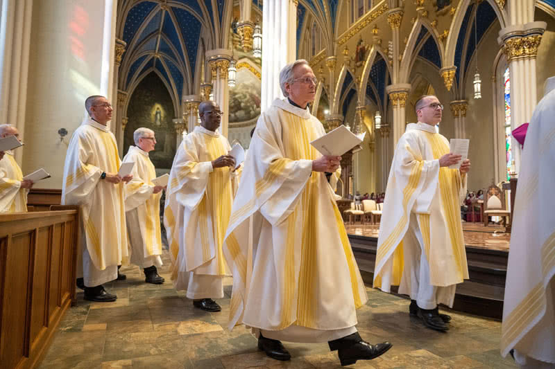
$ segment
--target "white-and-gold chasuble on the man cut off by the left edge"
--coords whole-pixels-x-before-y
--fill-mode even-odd
[[[0,213],[26,213],[29,190],[21,188],[22,181],[23,173],[13,152],[7,151],[0,160]]]

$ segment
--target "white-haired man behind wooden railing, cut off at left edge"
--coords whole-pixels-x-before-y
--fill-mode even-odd
[[[19,140],[19,131],[12,125],[0,125],[0,138],[7,136]],[[26,213],[27,194],[33,187],[33,181],[23,179],[13,155],[12,150],[6,151],[0,159],[0,213]]]

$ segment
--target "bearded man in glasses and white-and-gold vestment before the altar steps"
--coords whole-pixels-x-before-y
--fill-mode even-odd
[[[470,160],[450,154],[447,138],[436,133],[443,105],[422,96],[415,105],[418,123],[407,125],[393,155],[379,225],[374,287],[411,297],[409,313],[433,330],[449,330],[456,284],[468,279],[461,223]]]

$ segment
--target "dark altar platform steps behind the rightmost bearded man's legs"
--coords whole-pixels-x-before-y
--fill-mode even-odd
[[[372,285],[376,260],[377,238],[348,235],[364,282]],[[506,267],[509,253],[484,247],[466,246],[470,279],[456,287],[453,309],[502,318]],[[391,287],[397,293],[398,287]]]

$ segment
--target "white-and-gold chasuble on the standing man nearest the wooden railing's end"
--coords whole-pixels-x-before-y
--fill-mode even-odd
[[[128,257],[124,183],[100,178],[102,172],[117,173],[120,164],[114,134],[92,118],[85,119],[67,148],[62,205],[80,206],[83,239],[92,264],[100,271]]]

